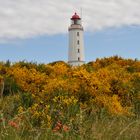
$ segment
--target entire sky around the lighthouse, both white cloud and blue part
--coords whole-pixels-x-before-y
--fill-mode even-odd
[[[0,0],[0,61],[67,61],[74,12],[82,17],[86,62],[140,60],[140,0]]]

